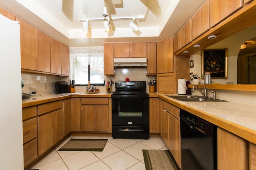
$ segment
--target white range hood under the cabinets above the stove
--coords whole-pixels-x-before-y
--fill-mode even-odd
[[[118,58],[114,59],[115,67],[147,66],[147,58]]]

